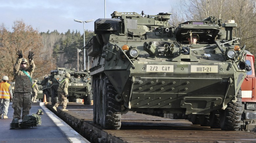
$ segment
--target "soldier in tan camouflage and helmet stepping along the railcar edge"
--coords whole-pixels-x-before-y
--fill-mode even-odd
[[[58,91],[58,102],[55,103],[55,105],[53,106],[53,109],[55,111],[57,111],[57,107],[61,103],[63,103],[62,111],[68,111],[68,109],[66,109],[66,107],[67,107],[67,102],[68,102],[67,97],[69,96],[68,95],[69,78],[70,78],[70,74],[66,73],[65,78],[59,84],[59,87],[58,87],[58,90],[57,90]]]

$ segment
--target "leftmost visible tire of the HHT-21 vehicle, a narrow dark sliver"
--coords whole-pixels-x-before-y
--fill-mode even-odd
[[[93,78],[93,122],[99,124],[99,112],[98,112],[98,89],[99,89],[99,78]]]

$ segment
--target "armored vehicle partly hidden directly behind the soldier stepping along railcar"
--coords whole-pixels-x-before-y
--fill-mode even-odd
[[[51,85],[51,95],[52,95],[52,105],[54,105],[58,101],[58,87],[64,75],[66,73],[70,73],[70,76],[74,76],[75,69],[66,69],[66,68],[57,68],[56,70],[52,70],[50,73],[50,81]]]

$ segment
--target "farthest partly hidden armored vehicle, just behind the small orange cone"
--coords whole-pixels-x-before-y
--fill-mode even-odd
[[[41,85],[42,85],[43,94],[45,94],[46,96],[46,101],[51,102],[52,81],[50,81],[50,75],[48,75],[47,77],[44,77],[44,80],[42,80]]]

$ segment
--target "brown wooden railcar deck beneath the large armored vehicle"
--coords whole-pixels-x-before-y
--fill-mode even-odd
[[[46,106],[53,111],[51,103]],[[93,123],[93,105],[68,103],[69,111],[53,111],[91,142],[256,142],[255,132],[222,131],[193,125],[188,120],[167,119],[128,112],[122,115],[120,130],[105,130]]]

